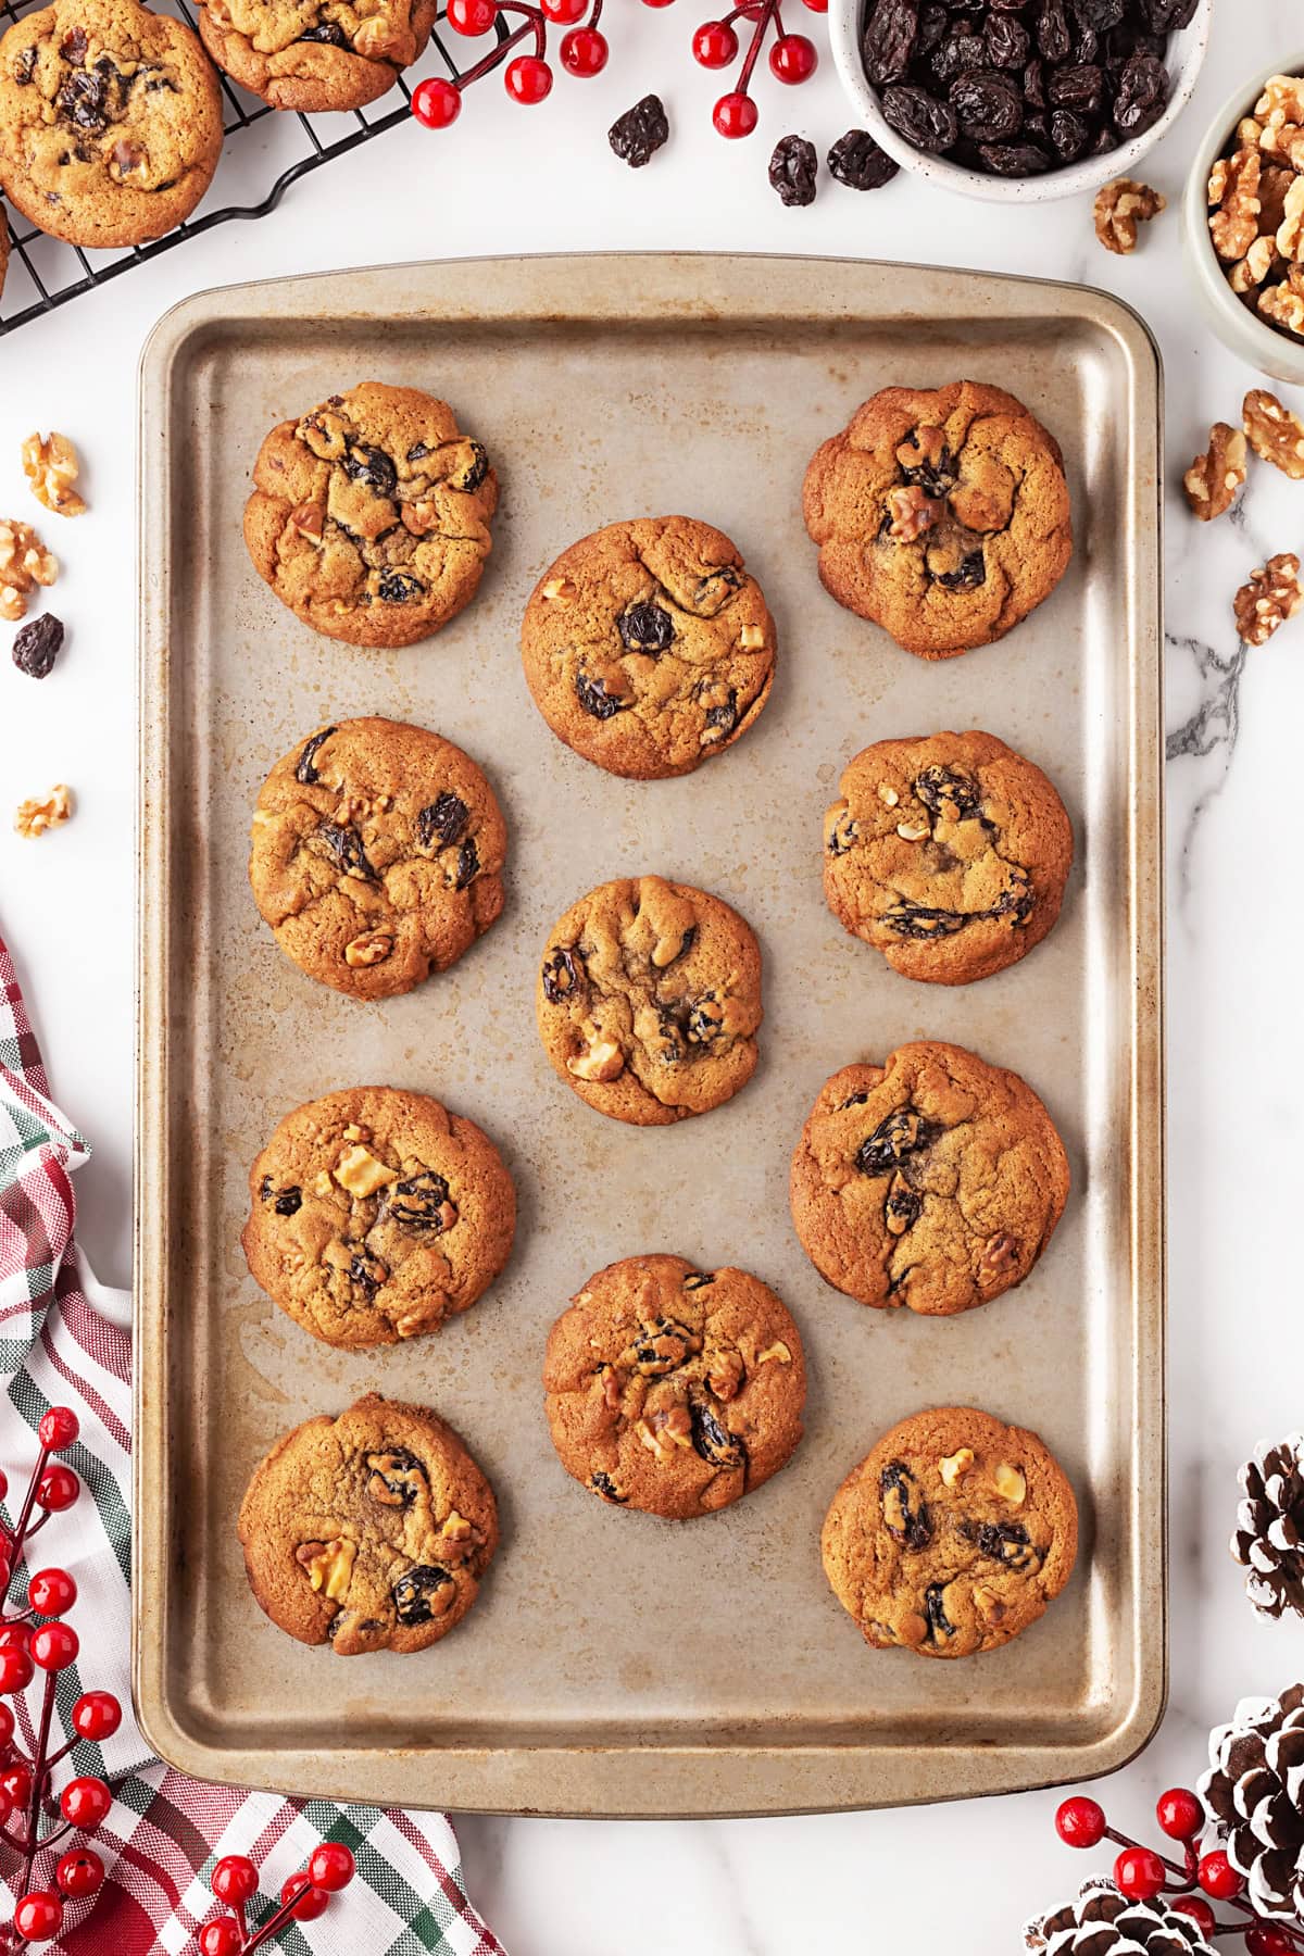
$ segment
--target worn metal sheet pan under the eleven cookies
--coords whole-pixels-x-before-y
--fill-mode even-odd
[[[1058,434],[1077,556],[1003,644],[925,665],[823,595],[807,456],[876,387],[968,374]],[[240,540],[264,430],[385,378],[457,407],[502,475],[475,604],[409,651],[330,644]],[[141,990],[135,1686],[164,1758],[211,1780],[413,1805],[585,1815],[862,1807],[1122,1764],[1165,1696],[1159,366],[1095,291],[860,262],[596,256],[418,264],[194,297],[141,378]],[[761,575],[774,696],[723,759],[622,782],[530,704],[516,649],[540,567],[618,516],[702,514]],[[362,1007],[299,974],[244,861],[270,763],[325,718],[450,735],[512,829],[502,919],[452,972]],[[823,906],[819,822],[882,735],[981,726],[1058,782],[1064,917],[983,984],[893,976]],[[608,876],[733,902],[766,956],[762,1058],[727,1107],[624,1129],[553,1078],[532,984],[549,923]],[[1064,1224],[1017,1291],[950,1322],[829,1291],[786,1174],[825,1076],[935,1035],[1013,1066],[1069,1148]],[[332,1352],[252,1283],[246,1164],[295,1103],[354,1082],[436,1093],[520,1189],[502,1281],[442,1336]],[[807,1436],[690,1526],[571,1483],[542,1414],[547,1326],[602,1264],[739,1262],[798,1316]],[[483,1598],[420,1657],[305,1651],[254,1608],[235,1512],[297,1420],[379,1389],[434,1404],[499,1492]],[[925,1404],[1038,1428],[1083,1510],[1079,1569],[1005,1651],[870,1651],[819,1569],[847,1467]]]

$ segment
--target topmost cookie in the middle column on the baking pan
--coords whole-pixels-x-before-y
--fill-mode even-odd
[[[520,649],[567,747],[608,775],[663,780],[757,720],[774,620],[727,536],[692,516],[645,516],[557,557],[534,587]]]

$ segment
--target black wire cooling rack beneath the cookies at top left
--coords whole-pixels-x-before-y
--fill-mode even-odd
[[[0,0],[0,33],[39,4],[43,0]],[[188,25],[196,25],[196,16],[186,0],[164,0],[162,6],[154,4],[154,12],[174,14]],[[371,137],[407,121],[413,88],[426,74],[461,78],[463,70],[440,37],[440,25],[444,25],[442,10],[420,63],[409,68],[407,76],[401,74],[389,94],[381,96],[369,110],[291,115],[285,110],[268,108],[258,96],[246,94],[219,72],[227,141],[217,176],[197,213],[154,239],[152,244],[137,244],[129,250],[82,250],[76,244],[45,237],[18,211],[10,211],[10,268],[4,293],[0,293],[0,338],[25,327],[29,319],[39,319],[43,313],[53,313],[57,305],[66,305],[68,299],[94,291],[96,286],[108,284],[121,272],[131,272],[147,258],[156,258],[160,252],[199,237],[201,231],[231,223],[233,217],[266,217],[289,186],[307,176],[309,170],[319,170],[323,162],[346,156],[360,143],[369,143]],[[499,35],[502,31],[499,23]],[[477,49],[471,59],[479,59],[479,53]],[[235,201],[223,203],[221,209],[205,207],[215,205],[223,196]]]

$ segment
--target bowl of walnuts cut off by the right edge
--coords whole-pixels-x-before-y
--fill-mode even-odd
[[[1214,115],[1183,198],[1183,246],[1224,346],[1304,385],[1304,53]]]

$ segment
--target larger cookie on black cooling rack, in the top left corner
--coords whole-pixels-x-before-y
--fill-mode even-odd
[[[209,188],[221,145],[217,76],[180,20],[55,0],[0,39],[0,186],[51,237],[162,237]]]

